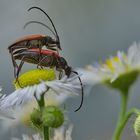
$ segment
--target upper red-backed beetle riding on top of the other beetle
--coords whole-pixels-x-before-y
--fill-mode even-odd
[[[62,50],[57,30],[56,30],[56,28],[54,26],[54,23],[53,23],[52,19],[50,18],[50,16],[44,10],[42,10],[39,7],[31,7],[31,8],[28,9],[28,11],[30,11],[32,9],[38,9],[42,13],[44,13],[47,16],[47,18],[49,19],[54,31],[50,27],[48,27],[47,25],[45,25],[41,22],[37,22],[37,21],[29,21],[25,24],[24,27],[26,27],[30,23],[41,24],[41,25],[45,26],[46,28],[48,28],[53,33],[53,35],[55,36],[55,39],[53,39],[50,36],[45,36],[45,35],[30,35],[30,36],[23,37],[23,38],[15,41],[13,44],[11,44],[8,47],[11,56],[13,56],[15,51],[22,52],[22,51],[30,49],[30,48],[39,48],[40,49],[40,55],[41,55],[41,49],[44,46],[47,49],[51,49],[51,50],[54,50],[54,51],[57,51],[57,52],[58,52],[58,50]],[[12,57],[12,62],[13,62],[14,68],[17,67],[17,64],[15,62],[14,57]],[[15,70],[14,70],[14,74],[16,75]]]

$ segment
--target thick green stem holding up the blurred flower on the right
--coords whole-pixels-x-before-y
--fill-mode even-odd
[[[126,110],[127,110],[127,101],[128,101],[128,91],[121,92],[121,107],[120,107],[119,119],[117,122],[116,131],[114,133],[112,140],[120,139],[122,130],[124,128],[124,124],[126,123],[124,122],[124,118],[125,118]]]

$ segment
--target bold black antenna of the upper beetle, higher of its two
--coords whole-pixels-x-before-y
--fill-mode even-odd
[[[41,12],[43,12],[43,13],[47,16],[47,18],[50,20],[50,22],[51,22],[51,24],[52,24],[52,26],[53,26],[53,28],[54,28],[54,31],[55,31],[55,33],[56,33],[57,40],[58,40],[58,42],[60,42],[59,36],[58,36],[58,33],[57,33],[57,30],[56,30],[56,28],[55,28],[55,26],[54,26],[54,23],[53,23],[52,19],[50,18],[50,16],[49,16],[44,10],[42,10],[41,8],[36,7],[36,6],[29,8],[28,11],[30,11],[30,10],[32,10],[32,9],[38,9],[38,10],[40,10]]]

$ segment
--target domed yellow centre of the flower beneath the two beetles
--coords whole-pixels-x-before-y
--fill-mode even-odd
[[[39,84],[42,81],[51,81],[56,79],[55,71],[52,69],[35,69],[22,74],[17,81],[14,81],[15,88],[24,88]]]

